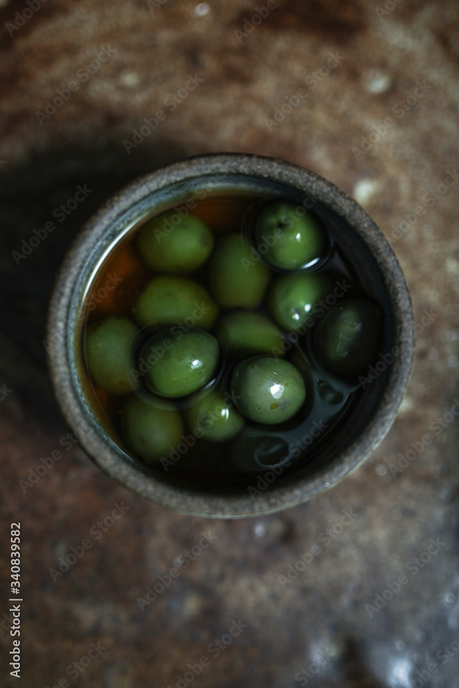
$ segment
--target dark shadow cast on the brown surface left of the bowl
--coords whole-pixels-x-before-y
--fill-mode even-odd
[[[35,149],[3,168],[0,385],[6,383],[14,398],[4,402],[5,410],[47,429],[62,426],[43,340],[47,303],[63,256],[82,224],[114,191],[186,155],[167,140],[145,142],[127,155],[119,140],[95,138]]]

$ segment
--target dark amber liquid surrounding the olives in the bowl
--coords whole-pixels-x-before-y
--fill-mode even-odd
[[[259,196],[240,192],[206,195],[204,200],[196,200],[196,207],[192,212],[211,228],[217,244],[221,235],[244,230],[244,226],[248,226],[250,208],[261,200],[263,198]],[[332,273],[334,280],[345,279],[347,284],[352,285],[345,298],[367,298],[345,251],[339,246],[339,237],[330,232],[326,223],[322,222],[322,226],[328,235],[330,250],[327,257],[310,271],[323,270]],[[142,224],[138,229],[141,227]],[[83,312],[87,313],[82,332],[83,360],[87,328],[109,315],[131,318],[138,294],[149,280],[160,274],[142,263],[136,248],[137,231],[131,233],[128,239],[111,252],[94,277],[83,307]],[[191,277],[193,281],[208,288],[206,264],[191,275],[182,276]],[[275,277],[278,277],[277,273],[273,273],[271,279]],[[269,288],[268,285],[266,294]],[[270,317],[266,297],[256,310]],[[264,475],[273,466],[288,463],[281,476],[281,480],[288,480],[299,467],[317,460],[321,447],[350,417],[352,408],[363,391],[356,380],[339,379],[321,368],[312,350],[312,330],[313,328],[308,328],[306,334],[300,336],[295,343],[288,341],[288,333],[284,333],[284,357],[303,372],[307,387],[306,402],[295,418],[277,426],[264,426],[247,420],[235,438],[224,442],[197,439],[193,436],[192,429],[185,429],[183,442],[180,442],[178,448],[173,448],[173,457],[164,457],[171,459],[167,462],[167,470],[161,464],[145,466],[145,470],[167,482],[200,491],[240,491],[241,488],[253,485],[258,475]],[[231,367],[237,363],[237,358],[226,357],[225,360],[226,368],[220,376],[222,391],[228,389],[225,383],[231,375]],[[96,420],[132,459],[142,464],[120,433],[120,406],[124,397],[110,394],[95,385],[87,370],[83,371],[83,376]],[[149,394],[146,389],[140,389],[138,393]],[[180,404],[178,400],[179,408]]]

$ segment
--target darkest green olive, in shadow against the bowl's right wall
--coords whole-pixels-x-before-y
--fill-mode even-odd
[[[317,323],[314,349],[332,373],[354,375],[376,354],[381,311],[369,301],[349,299],[334,305]]]

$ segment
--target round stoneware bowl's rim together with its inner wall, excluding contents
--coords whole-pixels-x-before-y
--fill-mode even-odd
[[[379,358],[345,422],[292,464],[259,465],[244,480],[167,479],[129,456],[109,424],[97,420],[87,389],[81,338],[83,304],[107,256],[146,219],[205,190],[279,198],[314,213],[354,266],[368,296],[383,312]],[[50,376],[58,404],[81,445],[108,475],[167,508],[206,517],[245,517],[305,502],[354,471],[394,422],[409,379],[413,353],[412,307],[392,249],[365,211],[336,186],[310,171],[255,155],[203,155],[171,164],[122,189],[87,222],[67,254],[50,304]],[[367,376],[370,375],[370,376]],[[365,382],[367,380],[367,382]],[[320,422],[320,418],[317,419]],[[267,431],[271,436],[275,431]],[[307,460],[306,460],[307,458]]]

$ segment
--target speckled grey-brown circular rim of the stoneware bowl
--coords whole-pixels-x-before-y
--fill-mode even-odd
[[[140,466],[123,460],[114,444],[104,440],[87,417],[72,381],[69,363],[75,326],[72,299],[94,244],[129,208],[158,189],[167,189],[171,184],[202,176],[215,179],[227,175],[286,184],[328,206],[343,218],[372,253],[381,270],[394,325],[392,343],[401,349],[400,355],[388,366],[376,411],[357,440],[345,451],[337,452],[312,475],[299,476],[289,484],[279,481],[256,497],[247,490],[241,494],[218,494],[173,486],[145,473]],[[370,455],[389,431],[403,400],[412,366],[414,327],[407,284],[394,252],[376,224],[350,196],[314,172],[283,160],[242,153],[217,153],[173,163],[134,180],[89,219],[67,253],[56,279],[50,302],[47,339],[50,377],[58,404],[70,428],[81,438],[83,449],[103,471],[134,493],[180,513],[237,518],[273,513],[306,502],[336,485]]]

